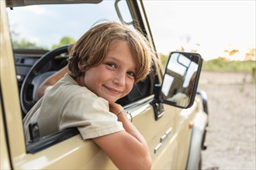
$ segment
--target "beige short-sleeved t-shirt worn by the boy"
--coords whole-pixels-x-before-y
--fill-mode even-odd
[[[23,119],[26,141],[29,124],[37,122],[40,137],[77,127],[83,139],[123,131],[123,124],[109,112],[109,103],[67,73],[29,110]]]

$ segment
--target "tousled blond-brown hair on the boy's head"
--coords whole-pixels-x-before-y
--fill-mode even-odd
[[[118,22],[105,22],[94,26],[74,43],[68,59],[68,68],[73,76],[79,76],[86,69],[102,63],[113,40],[129,43],[137,64],[135,83],[144,80],[151,70],[153,61],[157,61],[156,53],[140,32]]]

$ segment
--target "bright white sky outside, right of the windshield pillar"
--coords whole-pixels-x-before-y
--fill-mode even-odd
[[[168,53],[168,47],[196,49],[206,59],[227,56],[224,50],[238,49],[233,59],[244,59],[248,49],[255,48],[255,1],[146,1],[157,48]],[[160,19],[161,18],[161,19]],[[164,21],[164,24],[162,23]],[[169,43],[160,43],[175,39]],[[170,47],[169,47],[170,48]]]

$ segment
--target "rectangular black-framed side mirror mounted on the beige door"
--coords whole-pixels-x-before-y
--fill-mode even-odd
[[[164,104],[189,108],[195,100],[202,67],[199,53],[171,53],[161,85]]]

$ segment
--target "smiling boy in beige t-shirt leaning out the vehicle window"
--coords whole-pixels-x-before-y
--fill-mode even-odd
[[[159,62],[139,32],[117,22],[89,29],[70,49],[66,73],[23,120],[37,122],[40,136],[77,127],[92,139],[117,168],[150,169],[147,143],[116,100],[143,80]]]

